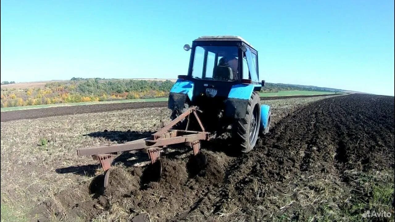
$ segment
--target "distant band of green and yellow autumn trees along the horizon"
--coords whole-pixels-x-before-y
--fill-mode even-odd
[[[2,82],[7,83],[8,82]],[[14,83],[14,82],[10,82]],[[169,95],[172,81],[72,78],[70,81],[55,81],[39,88],[2,88],[1,107],[41,105],[55,103],[92,102],[108,100],[160,98]],[[281,83],[266,83],[261,92],[286,90],[325,91]]]

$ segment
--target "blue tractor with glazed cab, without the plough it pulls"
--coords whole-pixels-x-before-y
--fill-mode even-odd
[[[184,50],[191,50],[189,69],[170,91],[171,119],[198,107],[208,132],[218,136],[231,126],[240,151],[251,151],[258,135],[269,132],[271,118],[269,105],[260,105],[265,81],[259,81],[258,51],[239,36],[202,36]],[[174,128],[188,128],[189,122],[185,118]]]

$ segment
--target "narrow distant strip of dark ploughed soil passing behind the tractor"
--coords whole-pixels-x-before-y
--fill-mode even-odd
[[[325,94],[312,96],[272,96],[261,97],[261,100],[276,100],[289,98],[308,98],[318,96],[331,96],[339,94]],[[1,112],[1,122],[19,120],[19,119],[37,119],[43,117],[56,117],[82,113],[101,113],[108,111],[124,110],[124,109],[141,109],[152,107],[167,107],[167,102],[132,102],[132,103],[107,103],[95,105],[73,105],[63,107],[50,107],[42,109],[26,109],[16,111]]]

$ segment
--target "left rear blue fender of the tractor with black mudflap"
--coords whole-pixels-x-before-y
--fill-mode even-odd
[[[193,82],[177,79],[170,90],[167,107],[172,110],[182,110],[187,97],[189,101],[192,101],[193,91]]]

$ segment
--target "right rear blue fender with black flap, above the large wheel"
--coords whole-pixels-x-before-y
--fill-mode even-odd
[[[237,84],[232,86],[225,101],[225,115],[234,119],[244,118],[248,100],[257,87],[261,87],[261,85]]]

